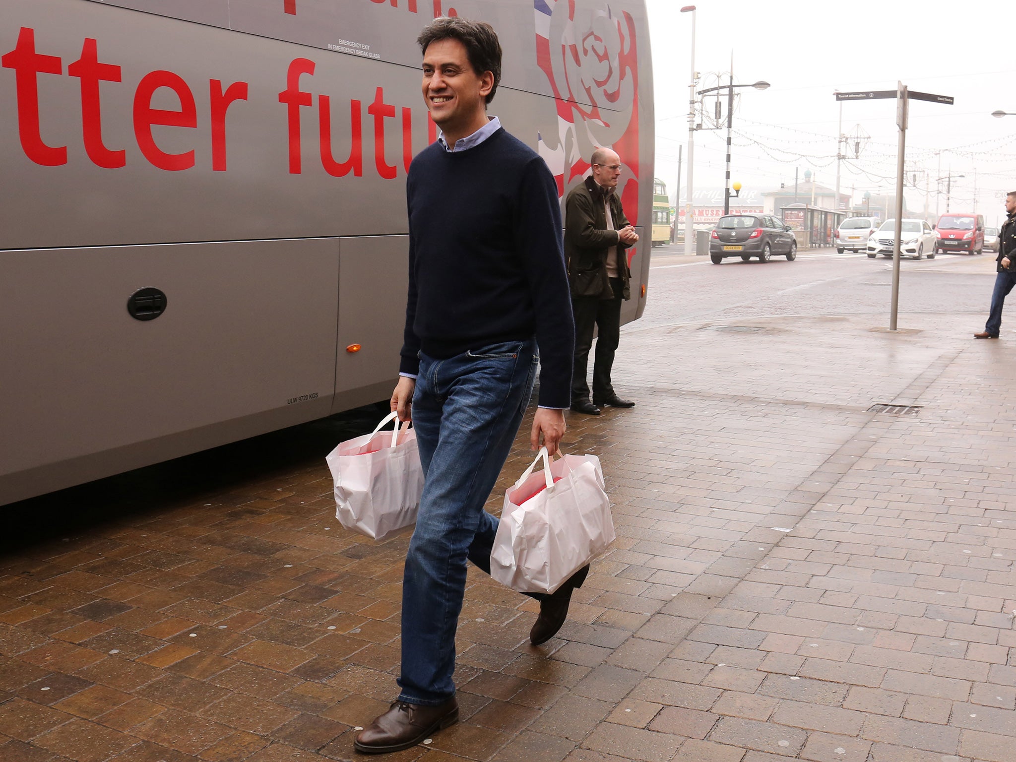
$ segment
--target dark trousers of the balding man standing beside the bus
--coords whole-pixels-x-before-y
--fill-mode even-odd
[[[592,398],[609,399],[614,396],[611,385],[611,368],[614,354],[621,339],[621,303],[624,301],[624,282],[620,277],[611,278],[614,299],[599,297],[572,297],[575,316],[575,365],[572,369],[572,403],[589,398],[586,368],[592,347],[592,331],[596,328],[596,353],[592,367]]]

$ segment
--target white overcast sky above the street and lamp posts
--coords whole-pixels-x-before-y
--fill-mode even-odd
[[[656,177],[673,195],[678,146],[688,142],[691,13],[683,0],[646,0],[656,112]],[[1006,191],[1016,189],[1016,46],[1003,31],[1013,6],[967,2],[832,3],[825,0],[703,0],[696,3],[695,68],[699,89],[731,70],[735,82],[760,79],[766,90],[742,88],[734,114],[732,182],[745,188],[792,187],[795,168],[834,187],[839,105],[833,90],[911,89],[953,96],[953,106],[910,103],[907,205],[925,203],[926,178],[935,212],[936,179],[951,170],[953,211],[974,207],[995,224]],[[710,75],[712,81],[710,82]],[[725,81],[725,80],[724,80]],[[895,101],[843,104],[843,132],[871,136],[861,156],[843,163],[840,189],[855,199],[869,190],[893,193],[896,177]],[[941,156],[936,154],[941,151]],[[852,144],[851,144],[852,152]],[[725,130],[695,133],[695,188],[722,187]],[[941,172],[939,161],[941,158]],[[687,168],[687,164],[685,165]],[[961,179],[955,176],[963,175]],[[687,182],[682,171],[681,185]],[[943,193],[945,182],[942,183]],[[945,196],[940,200],[945,211]]]

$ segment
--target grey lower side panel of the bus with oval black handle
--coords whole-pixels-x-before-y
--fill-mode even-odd
[[[0,252],[0,504],[327,416],[337,284],[335,239]]]

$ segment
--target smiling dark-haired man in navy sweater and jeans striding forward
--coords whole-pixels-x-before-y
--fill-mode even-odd
[[[411,417],[425,482],[402,581],[401,693],[357,737],[365,753],[407,749],[458,719],[452,673],[466,561],[490,573],[498,526],[484,503],[537,360],[530,443],[557,451],[574,345],[554,177],[487,116],[501,77],[497,35],[487,23],[438,18],[418,42],[424,100],[442,136],[406,181],[409,293],[391,405]],[[536,596],[532,642],[560,629],[587,571]]]

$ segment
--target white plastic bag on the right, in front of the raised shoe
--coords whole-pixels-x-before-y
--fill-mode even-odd
[[[541,459],[544,470],[533,473]],[[505,493],[491,576],[519,592],[554,592],[614,537],[599,458],[565,455],[552,462],[544,447]]]

